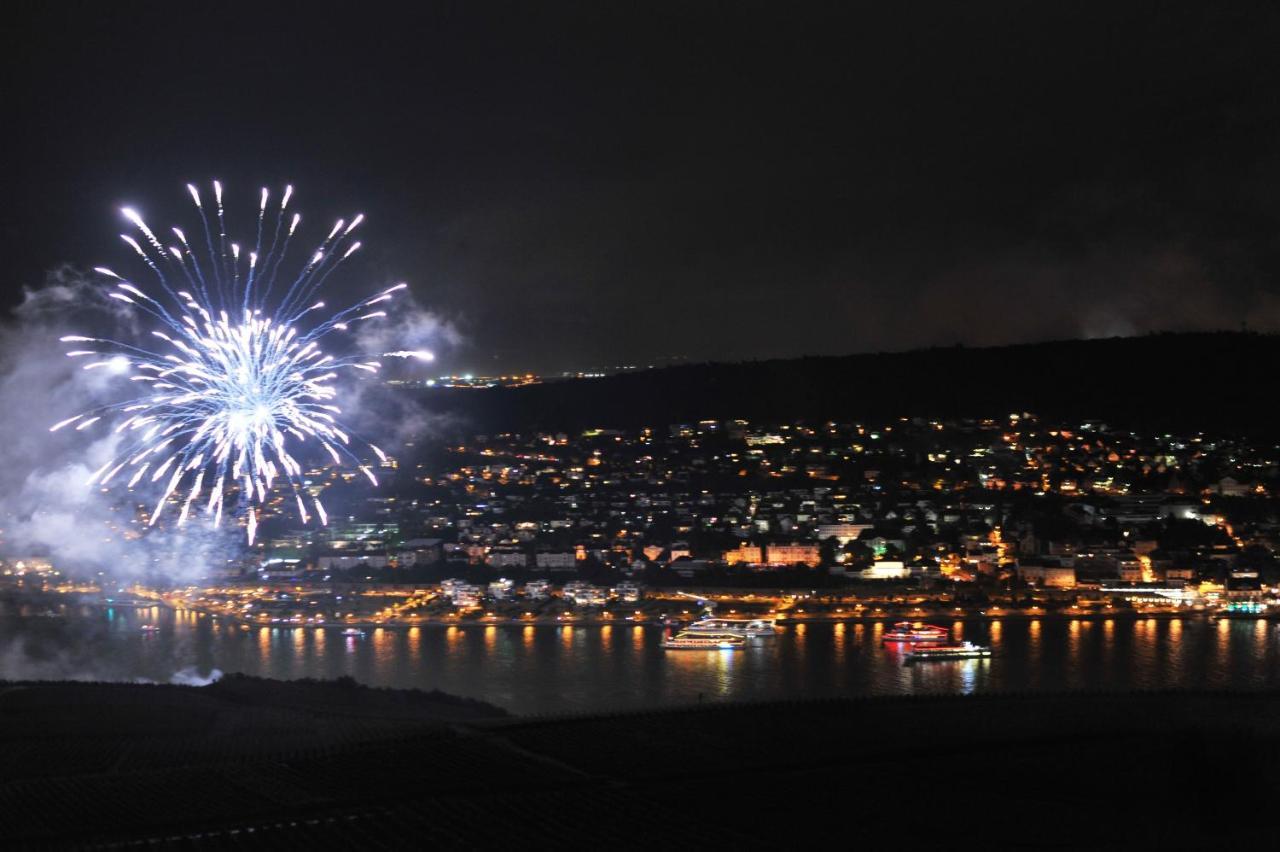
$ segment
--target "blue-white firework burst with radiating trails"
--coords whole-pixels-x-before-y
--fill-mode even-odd
[[[227,234],[220,183],[214,182],[212,220],[200,189],[187,184],[187,191],[205,232],[198,249],[200,241],[193,246],[179,228],[172,229],[177,242],[166,246],[134,210],[120,211],[137,230],[137,235],[122,234],[120,239],[147,266],[156,296],[110,269],[95,269],[111,281],[111,298],[157,322],[151,335],[161,342],[159,349],[105,338],[61,338],[77,345],[67,353],[69,357],[90,359],[84,370],[129,374],[128,380],[137,383],[141,395],[77,414],[50,431],[82,431],[106,421],[123,435],[123,449],[88,484],[106,487],[125,478],[129,489],[140,482],[159,484],[163,490],[150,526],[170,503],[179,525],[195,510],[218,526],[232,498],[233,510],[246,514],[252,544],[259,509],[278,485],[292,493],[303,523],[311,521],[312,512],[321,525],[326,523],[324,505],[303,490],[294,448],[316,444],[334,463],[353,462],[378,485],[370,467],[348,449],[352,439],[337,420],[342,411],[335,404],[333,381],[346,370],[376,374],[381,365],[325,354],[320,342],[355,322],[385,316],[375,306],[407,285],[397,284],[326,319],[312,320],[324,316],[317,313],[324,302],[314,301],[321,284],[360,248],[349,237],[364,215],[349,223],[339,219],[301,271],[278,281],[301,221],[300,215],[287,212],[293,187],[284,189],[274,211],[269,211],[269,191],[262,189],[251,251],[242,251]],[[261,256],[264,221],[270,239]],[[278,289],[280,294],[273,299]],[[431,358],[429,352],[387,354]],[[369,448],[387,461],[378,446]]]

